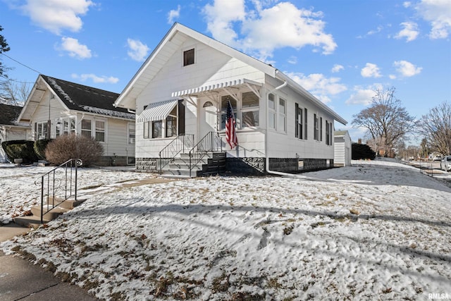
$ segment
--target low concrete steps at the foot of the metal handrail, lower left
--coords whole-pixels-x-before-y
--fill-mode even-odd
[[[48,204],[44,204],[43,207],[44,212],[46,213],[42,216],[42,222],[48,223],[49,221],[53,221],[61,214],[64,214],[67,211],[70,211],[70,209],[77,207],[82,202],[85,202],[85,200],[86,199],[66,199],[63,201],[61,198],[53,199],[52,197],[49,197]],[[27,228],[38,228],[41,226],[41,205],[31,207],[30,211],[32,215],[15,217],[13,219],[14,223]]]

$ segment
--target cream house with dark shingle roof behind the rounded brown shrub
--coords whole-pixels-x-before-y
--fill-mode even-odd
[[[135,113],[113,106],[118,96],[39,75],[18,121],[31,126],[30,140],[87,135],[104,147],[99,165],[134,164]]]

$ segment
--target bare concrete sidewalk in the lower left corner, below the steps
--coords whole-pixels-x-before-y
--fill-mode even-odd
[[[30,230],[17,226],[15,223],[0,226],[0,242],[28,231]],[[61,281],[40,266],[20,257],[6,255],[2,251],[0,251],[0,279],[0,300],[2,301],[98,300],[89,295],[86,290]]]

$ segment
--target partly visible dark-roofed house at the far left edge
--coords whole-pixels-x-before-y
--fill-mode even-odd
[[[28,140],[31,135],[31,128],[21,125],[17,118],[22,110],[22,106],[11,106],[10,104],[0,104],[0,162],[6,162],[6,156],[1,142],[11,140]]]

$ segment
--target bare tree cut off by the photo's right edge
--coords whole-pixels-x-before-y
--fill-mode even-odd
[[[435,106],[416,123],[417,129],[428,145],[441,154],[451,154],[451,104]]]

